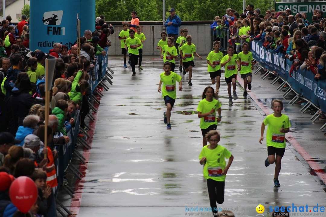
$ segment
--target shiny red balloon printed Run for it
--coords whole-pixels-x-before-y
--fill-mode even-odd
[[[11,183],[9,196],[19,211],[27,213],[37,200],[37,186],[31,178],[20,176]]]

